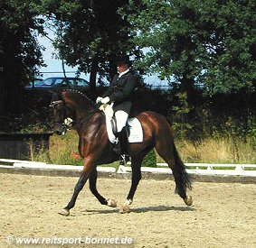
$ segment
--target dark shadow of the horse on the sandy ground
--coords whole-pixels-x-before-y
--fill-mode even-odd
[[[166,211],[195,211],[194,207],[172,207],[172,206],[153,206],[153,207],[137,207],[131,208],[130,213],[147,213],[147,212],[166,212]],[[116,214],[119,212],[119,207],[112,209],[98,209],[98,210],[84,210],[84,215],[102,215],[102,214]]]

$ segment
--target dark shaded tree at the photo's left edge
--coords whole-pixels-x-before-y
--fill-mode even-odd
[[[35,30],[41,19],[33,8],[38,1],[1,1],[0,3],[0,83],[2,112],[14,111],[18,89],[43,65],[41,47]],[[4,107],[5,103],[5,107]]]

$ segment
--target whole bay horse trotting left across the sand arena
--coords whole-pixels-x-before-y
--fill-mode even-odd
[[[73,125],[79,135],[79,152],[83,158],[83,170],[78,180],[70,202],[59,214],[70,215],[70,209],[75,206],[76,199],[87,179],[91,193],[102,205],[117,207],[117,201],[102,197],[96,188],[97,165],[108,164],[119,160],[119,154],[113,152],[113,144],[109,142],[106,130],[105,115],[81,92],[65,90],[52,96],[53,128],[55,133],[64,134],[67,125]],[[120,213],[129,211],[137,185],[141,179],[141,162],[153,148],[166,161],[173,171],[175,193],[183,198],[187,206],[192,205],[192,197],[186,196],[186,188],[191,189],[191,180],[185,171],[175,148],[174,135],[166,117],[155,112],[145,111],[136,116],[142,124],[143,142],[129,143],[128,151],[131,158],[131,187],[125,203],[120,207]]]

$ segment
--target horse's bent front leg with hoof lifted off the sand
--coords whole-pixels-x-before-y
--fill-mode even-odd
[[[96,170],[96,167],[91,170],[90,172],[90,178],[89,178],[89,183],[90,183],[90,191],[91,193],[100,201],[102,205],[107,205],[109,207],[117,207],[117,201],[114,199],[106,199],[100,195],[96,188],[96,183],[97,183],[97,177],[98,173]]]

